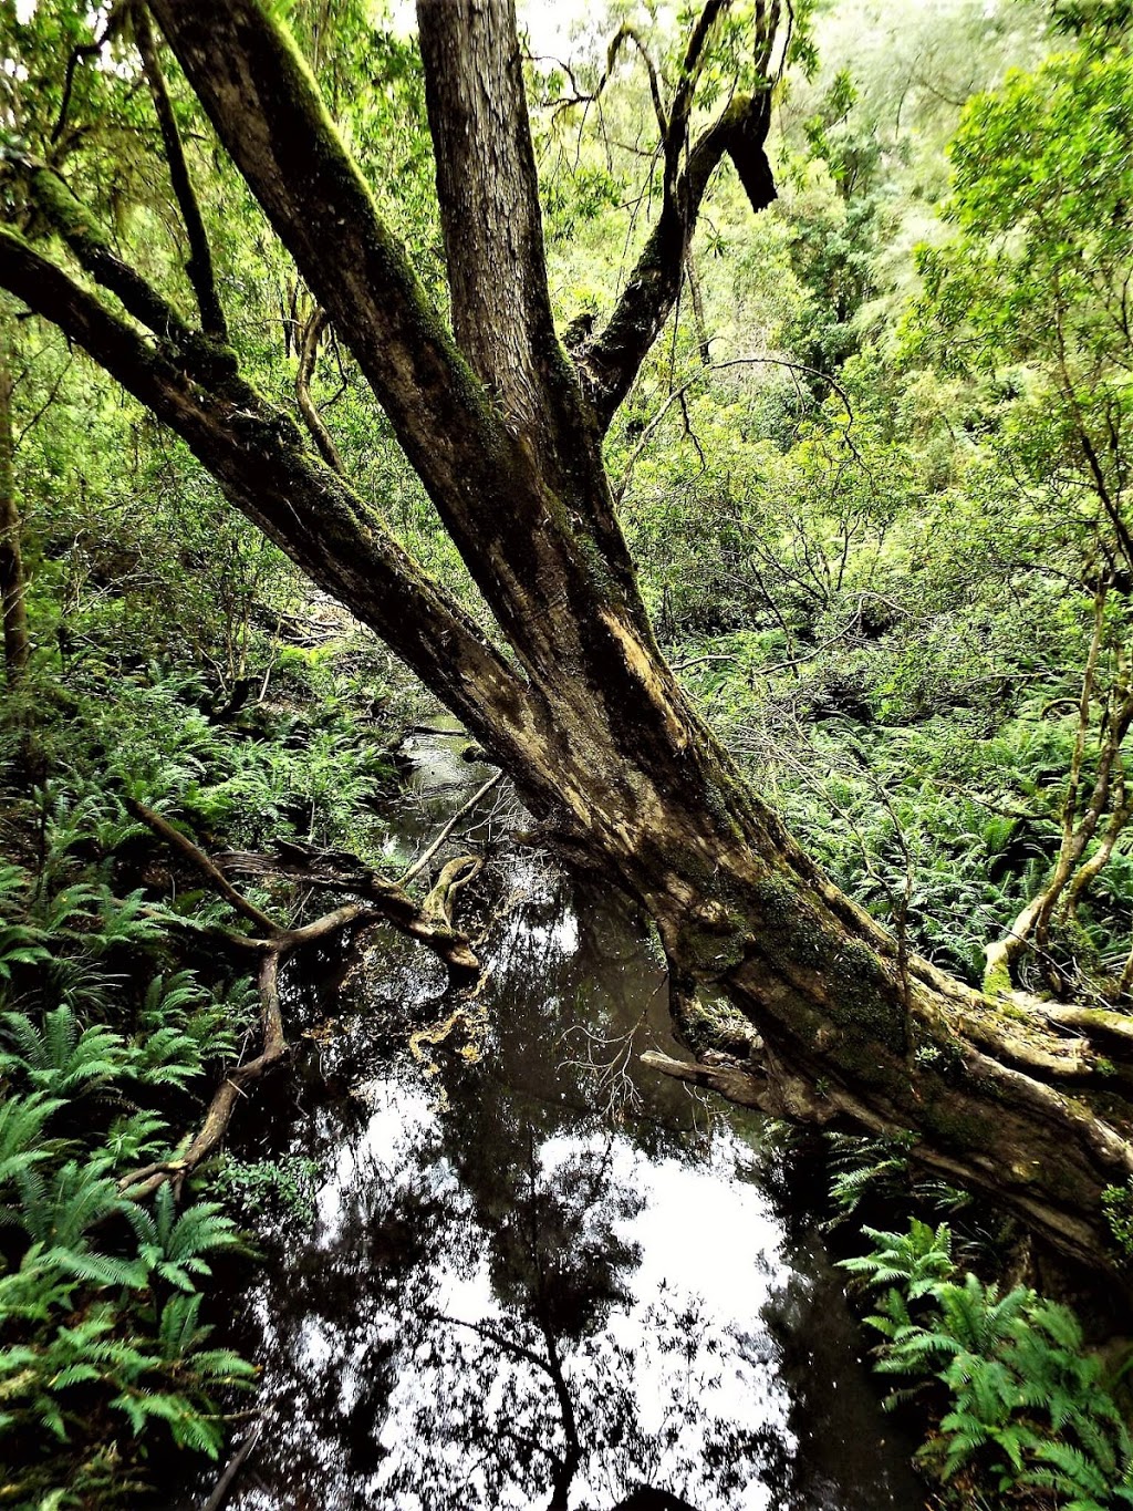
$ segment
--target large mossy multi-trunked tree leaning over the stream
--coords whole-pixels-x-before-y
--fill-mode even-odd
[[[920,1157],[1107,1263],[1103,1188],[1133,1174],[1125,1108],[1089,1031],[994,1003],[899,949],[819,872],[681,692],[638,591],[601,440],[680,289],[712,172],[754,207],[773,183],[769,95],[695,139],[695,24],[662,106],[665,202],[603,331],[554,331],[520,51],[508,0],[420,0],[452,331],[420,287],[319,98],[258,0],[154,0],[213,125],[390,417],[491,607],[489,647],[293,420],[124,267],[57,178],[29,193],[103,301],[0,231],[0,283],[85,346],[192,447],[233,503],[373,626],[512,774],[563,849],[656,920],[686,1015],[712,984],[754,1023],[743,1062],[695,1074],[792,1117],[912,1129]],[[769,9],[773,15],[773,8]],[[763,38],[767,63],[772,38]],[[139,329],[144,328],[144,329]],[[1119,1038],[1110,1035],[1115,1058]],[[727,1085],[725,1085],[727,1082]]]

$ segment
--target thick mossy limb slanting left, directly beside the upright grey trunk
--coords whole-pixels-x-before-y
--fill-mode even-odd
[[[405,248],[381,219],[293,38],[258,0],[154,0],[151,9],[411,465],[452,518],[452,500],[470,482],[486,493],[486,474],[499,480],[505,438]],[[476,479],[468,476],[470,449],[483,458]],[[453,533],[470,538],[474,561],[474,529],[461,530],[461,523],[453,521]]]

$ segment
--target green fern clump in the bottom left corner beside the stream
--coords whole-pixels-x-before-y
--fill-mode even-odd
[[[113,1150],[50,1136],[66,1106],[33,1091],[0,1109],[0,1227],[23,1242],[0,1268],[0,1452],[8,1490],[29,1497],[17,1503],[38,1503],[63,1482],[89,1493],[91,1455],[112,1446],[97,1503],[113,1505],[140,1485],[156,1431],[213,1458],[221,1449],[216,1395],[254,1370],[205,1348],[196,1287],[215,1254],[243,1244],[215,1203],[178,1212],[169,1186],[153,1210],[121,1195]],[[144,1141],[154,1120],[139,1117]],[[124,1139],[118,1153],[136,1148]]]

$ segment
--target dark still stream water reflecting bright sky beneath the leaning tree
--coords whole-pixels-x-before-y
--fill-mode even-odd
[[[415,740],[391,855],[486,775],[458,743]],[[243,1298],[263,1426],[228,1505],[920,1511],[760,1120],[638,1067],[677,1052],[642,925],[515,851],[468,891],[477,999],[382,934],[304,1003],[260,1138],[317,1160],[314,1218]]]

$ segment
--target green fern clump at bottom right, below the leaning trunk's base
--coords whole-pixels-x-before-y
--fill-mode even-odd
[[[1133,1443],[1101,1366],[1068,1307],[1026,1286],[1000,1295],[956,1278],[947,1224],[866,1228],[873,1250],[841,1262],[878,1310],[876,1369],[903,1384],[893,1407],[932,1381],[947,1410],[918,1458],[946,1485],[961,1470],[1000,1496],[1041,1490],[1067,1511],[1133,1506]]]

